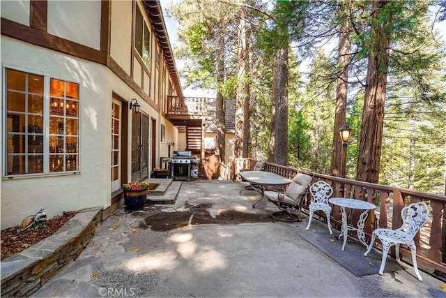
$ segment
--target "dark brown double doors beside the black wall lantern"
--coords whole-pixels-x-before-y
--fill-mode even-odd
[[[132,181],[148,178],[150,122],[146,114],[132,114]]]

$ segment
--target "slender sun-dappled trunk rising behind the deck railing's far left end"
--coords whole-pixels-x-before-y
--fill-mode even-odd
[[[246,49],[246,8],[240,8],[240,22],[238,23],[238,78],[237,78],[237,100],[236,100],[236,132],[234,135],[234,157],[243,157],[243,140],[245,135],[245,105],[246,105],[246,79],[245,79],[245,49]]]

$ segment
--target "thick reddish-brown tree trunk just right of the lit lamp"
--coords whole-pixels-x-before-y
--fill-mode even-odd
[[[380,19],[387,0],[374,1],[371,49],[367,69],[367,85],[362,111],[360,147],[356,180],[378,183],[381,142],[383,140],[384,103],[389,68],[391,16]]]

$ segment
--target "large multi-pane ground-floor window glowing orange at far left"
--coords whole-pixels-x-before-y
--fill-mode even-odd
[[[79,170],[79,84],[5,73],[6,175]]]

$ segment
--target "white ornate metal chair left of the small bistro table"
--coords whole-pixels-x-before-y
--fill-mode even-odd
[[[307,230],[312,224],[314,211],[319,210],[323,211],[325,216],[327,216],[328,231],[330,232],[330,235],[332,235],[332,224],[330,223],[332,207],[328,204],[328,199],[332,196],[333,188],[325,181],[317,181],[309,187],[309,192],[312,193],[312,202],[308,206],[309,218]]]

